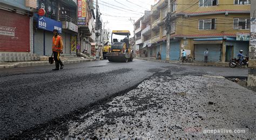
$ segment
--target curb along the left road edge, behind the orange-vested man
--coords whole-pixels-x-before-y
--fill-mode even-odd
[[[76,64],[80,62],[90,62],[90,61],[96,61],[98,59],[77,59],[77,60],[63,60],[64,64]],[[1,68],[14,68],[14,67],[30,67],[30,66],[47,66],[51,65],[48,61],[26,61],[26,62],[16,62],[14,64],[6,64],[6,65],[0,65]]]

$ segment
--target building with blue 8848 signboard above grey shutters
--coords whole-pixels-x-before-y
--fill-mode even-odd
[[[37,10],[39,9],[44,9],[45,15],[33,15],[33,53],[51,55],[52,30],[57,29],[63,38],[64,55],[76,54],[77,1],[37,0]]]

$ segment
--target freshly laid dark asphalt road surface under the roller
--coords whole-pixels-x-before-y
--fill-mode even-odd
[[[135,59],[129,63],[107,60],[54,66],[1,69],[0,136],[31,134],[90,111],[95,104],[124,95],[154,73],[247,76],[247,69],[166,64]],[[185,70],[184,70],[185,69]],[[26,136],[26,135],[24,135]]]

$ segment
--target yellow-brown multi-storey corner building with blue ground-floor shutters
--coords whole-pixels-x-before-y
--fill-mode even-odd
[[[178,41],[180,48],[176,52],[170,43],[170,60],[178,60],[171,52],[183,49],[196,61],[203,61],[206,48],[209,61],[229,61],[239,50],[248,54],[250,0],[174,0],[170,5],[170,42]]]

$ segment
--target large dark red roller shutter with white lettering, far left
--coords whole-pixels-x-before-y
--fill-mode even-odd
[[[0,19],[0,51],[30,52],[29,16],[0,9]]]

